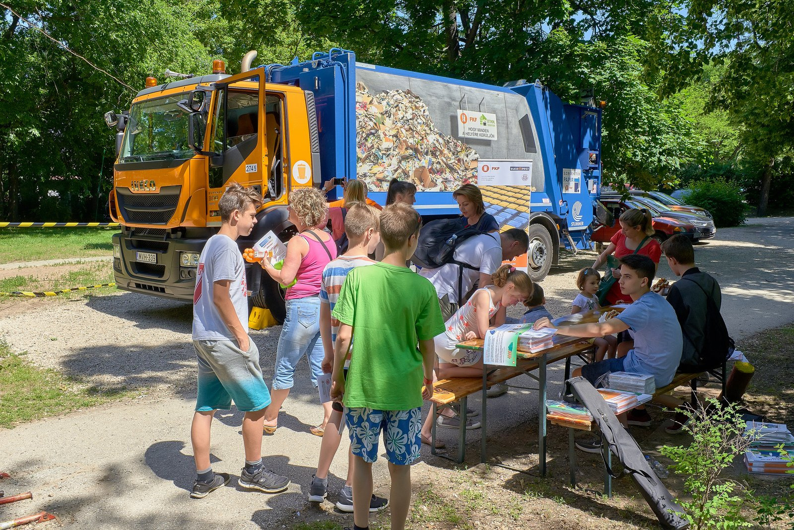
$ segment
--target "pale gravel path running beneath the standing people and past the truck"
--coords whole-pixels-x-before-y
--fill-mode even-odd
[[[750,220],[738,229],[721,229],[715,240],[696,246],[698,262],[723,286],[723,316],[734,338],[792,321],[792,248],[792,218]],[[576,271],[594,259],[595,252],[565,254],[561,266],[545,278],[542,286],[551,313],[569,312],[576,295]],[[659,275],[673,278],[665,259]],[[512,313],[518,316],[520,311]],[[227,528],[271,528],[276,521],[303,519],[306,509],[310,517],[322,517],[321,510],[308,508],[305,502],[320,442],[308,429],[321,417],[305,361],[279,417],[279,431],[266,438],[263,450],[273,455],[268,465],[293,478],[290,490],[272,497],[231,487],[204,501],[188,499],[193,473],[189,422],[195,399],[190,332],[190,305],[139,294],[3,305],[0,340],[12,351],[24,351],[31,362],[79,381],[140,390],[140,397],[132,401],[0,432],[0,447],[14,448],[4,451],[2,467],[13,478],[3,489],[34,490],[37,495],[35,508],[16,503],[4,514],[19,517],[34,509],[48,509],[73,528],[214,528],[221,506],[226,513],[236,514],[236,522]],[[280,328],[252,332],[266,381],[272,378],[279,332]],[[561,372],[562,366],[549,371],[553,382],[549,395],[557,393]],[[525,376],[515,384],[531,386],[531,380]],[[474,401],[472,406],[477,408]],[[537,394],[512,390],[509,397],[489,407],[488,432],[491,436],[511,432],[528,418],[536,418],[537,403]],[[526,409],[526,414],[515,414],[517,409]],[[213,433],[215,468],[237,474],[241,414],[224,414],[220,421]],[[529,425],[533,427],[534,420]],[[473,444],[480,434],[480,430],[469,432],[469,460],[476,458]],[[452,431],[442,431],[441,436],[456,445],[457,435]],[[302,450],[296,451],[297,447]],[[437,463],[427,452],[426,462]],[[345,476],[342,456],[332,467],[335,478],[330,497]],[[414,473],[426,477],[433,470],[422,463]],[[376,473],[376,489],[380,486],[386,494],[385,466],[377,465]],[[332,509],[330,503],[324,507]]]

